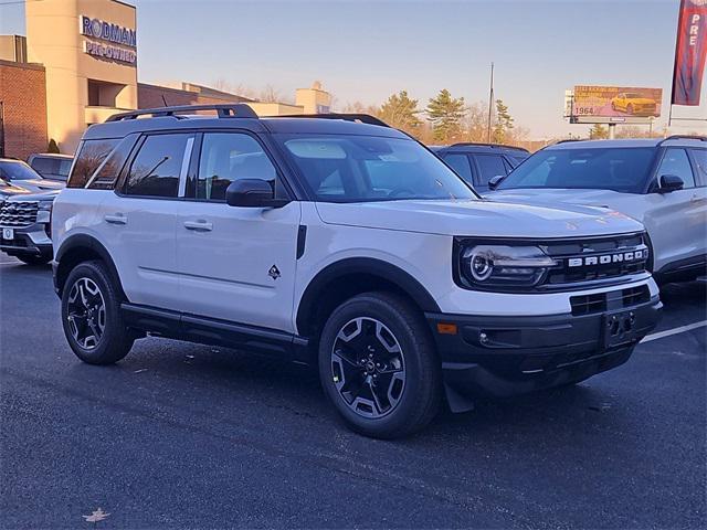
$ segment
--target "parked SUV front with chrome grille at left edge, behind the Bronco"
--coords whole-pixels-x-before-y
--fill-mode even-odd
[[[51,262],[51,214],[59,192],[18,192],[0,203],[0,251],[29,265]]]

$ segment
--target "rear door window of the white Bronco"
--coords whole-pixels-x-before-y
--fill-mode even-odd
[[[193,135],[148,136],[133,160],[124,192],[128,195],[176,198],[190,138]]]

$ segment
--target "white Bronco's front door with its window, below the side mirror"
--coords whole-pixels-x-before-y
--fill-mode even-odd
[[[279,190],[277,171],[246,132],[205,132],[196,174],[177,215],[180,309],[190,315],[294,331],[300,206],[235,208],[225,190],[236,179],[263,179]]]

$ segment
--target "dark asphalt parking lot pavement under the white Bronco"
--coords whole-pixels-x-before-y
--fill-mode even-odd
[[[0,527],[705,528],[704,283],[577,388],[442,414],[379,442],[316,375],[146,339],[110,368],[61,331],[49,267],[0,259]]]

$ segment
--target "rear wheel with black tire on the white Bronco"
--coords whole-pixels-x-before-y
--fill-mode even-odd
[[[101,303],[103,310],[96,309]],[[62,324],[71,349],[89,364],[118,362],[135,342],[123,321],[118,289],[102,262],[81,263],[68,274],[62,293]]]

